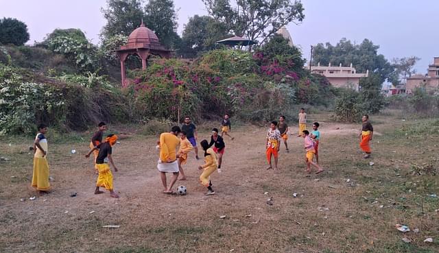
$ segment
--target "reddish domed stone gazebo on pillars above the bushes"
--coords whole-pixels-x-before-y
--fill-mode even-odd
[[[132,31],[128,36],[128,43],[116,50],[117,56],[121,60],[121,82],[122,87],[128,86],[126,78],[125,61],[130,54],[137,54],[142,59],[142,69],[146,69],[147,60],[151,55],[170,58],[171,51],[165,49],[158,41],[158,37],[151,29],[143,25]]]

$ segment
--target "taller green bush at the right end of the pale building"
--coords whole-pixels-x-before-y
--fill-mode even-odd
[[[372,74],[369,77],[359,80],[361,110],[364,113],[377,113],[385,105],[385,99],[381,94],[381,81],[378,75]]]

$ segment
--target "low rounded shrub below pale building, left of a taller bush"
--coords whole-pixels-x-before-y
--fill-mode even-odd
[[[340,121],[357,122],[361,119],[359,93],[343,89],[335,99],[335,117]]]

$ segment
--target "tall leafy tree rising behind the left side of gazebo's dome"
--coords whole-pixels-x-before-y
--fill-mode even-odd
[[[141,0],[107,0],[107,8],[101,9],[107,20],[101,37],[110,38],[115,35],[129,36],[139,27],[144,17]]]

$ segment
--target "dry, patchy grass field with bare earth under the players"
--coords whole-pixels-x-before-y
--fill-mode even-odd
[[[203,195],[202,160],[193,153],[188,180],[176,184],[187,186],[188,195],[164,195],[156,136],[141,134],[113,151],[121,197],[94,195],[92,160],[84,158],[90,133],[80,134],[81,141],[50,130],[54,180],[51,193],[38,196],[29,186],[32,137],[3,137],[0,156],[10,160],[0,161],[0,252],[439,252],[439,197],[428,196],[439,195],[439,121],[395,115],[371,117],[369,160],[359,151],[359,124],[309,115],[321,125],[320,164],[327,170],[318,176],[305,173],[303,138],[289,136],[290,152],[281,147],[281,172],[273,173],[265,170],[266,129],[233,128],[222,173],[211,178],[213,196]],[[208,137],[206,128],[199,141]],[[403,234],[395,224],[412,231]],[[427,237],[434,242],[425,243]]]

